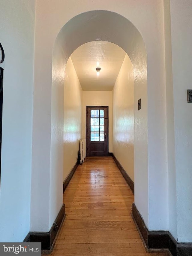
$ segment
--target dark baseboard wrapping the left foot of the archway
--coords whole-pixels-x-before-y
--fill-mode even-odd
[[[63,204],[49,232],[29,232],[23,242],[41,242],[42,250],[52,250],[64,218],[65,205]]]

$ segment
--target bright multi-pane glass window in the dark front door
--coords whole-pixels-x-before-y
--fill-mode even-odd
[[[104,109],[91,109],[91,141],[104,141]]]

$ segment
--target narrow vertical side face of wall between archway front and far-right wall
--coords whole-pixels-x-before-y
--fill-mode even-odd
[[[175,138],[173,110],[173,74],[171,49],[170,1],[164,0],[164,37],[165,37],[165,82],[167,108],[167,160],[169,175],[169,231],[177,239],[176,210],[176,172],[175,172]]]

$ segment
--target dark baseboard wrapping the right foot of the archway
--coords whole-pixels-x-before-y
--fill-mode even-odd
[[[169,249],[173,256],[192,255],[192,243],[178,243],[169,231],[149,231],[135,204],[133,218],[148,249]]]

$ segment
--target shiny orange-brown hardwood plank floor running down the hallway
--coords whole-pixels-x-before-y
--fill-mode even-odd
[[[66,218],[51,255],[168,256],[147,253],[134,221],[134,195],[112,157],[89,157],[64,192]]]

